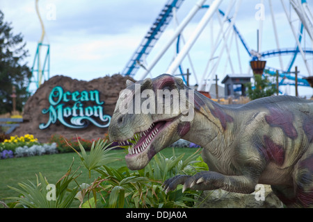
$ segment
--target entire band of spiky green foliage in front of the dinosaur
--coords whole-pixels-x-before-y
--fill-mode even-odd
[[[173,156],[166,158],[159,153],[154,159],[139,171],[129,171],[127,167],[113,169],[106,166],[108,162],[116,161],[115,157],[111,157],[111,149],[114,147],[106,144],[106,141],[93,142],[90,152],[86,153],[86,149],[79,144],[81,153],[74,151],[80,157],[81,163],[89,171],[97,171],[101,177],[96,178],[90,184],[83,183],[74,189],[69,189],[70,182],[75,181],[74,173],[70,169],[65,173],[58,182],[56,182],[56,200],[47,200],[47,189],[44,185],[48,185],[47,179],[39,174],[37,185],[27,185],[19,183],[22,189],[14,189],[22,197],[13,197],[8,199],[15,200],[10,203],[10,207],[70,207],[72,200],[77,198],[81,205],[79,207],[193,207],[197,203],[202,191],[194,191],[187,189],[182,193],[182,185],[179,185],[175,191],[163,191],[162,183],[164,180],[171,178],[177,174],[193,175],[202,170],[195,164],[199,150],[193,155],[182,159],[183,155],[176,157],[173,149]],[[73,160],[74,161],[74,160]],[[67,194],[69,192],[69,194]],[[90,197],[90,194],[92,197]],[[102,197],[102,205],[97,205],[97,194]],[[66,198],[65,198],[66,197]],[[83,203],[84,198],[88,200]]]

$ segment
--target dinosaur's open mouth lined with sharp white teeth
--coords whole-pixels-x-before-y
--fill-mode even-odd
[[[127,139],[125,142],[119,142],[120,144],[130,144],[128,146],[128,156],[137,155],[147,149],[152,144],[155,137],[159,135],[161,130],[166,126],[167,121],[158,121],[152,123],[152,125],[145,131],[134,134],[134,137]]]

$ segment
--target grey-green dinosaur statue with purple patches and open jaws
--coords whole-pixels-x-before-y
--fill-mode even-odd
[[[187,94],[190,90],[182,79],[168,74],[136,83],[127,80],[126,89],[128,94],[116,103],[109,137],[123,144],[135,141],[125,156],[129,169],[143,169],[156,153],[182,138],[203,148],[209,171],[174,176],[163,182],[166,191],[182,184],[183,191],[224,189],[250,194],[261,183],[271,185],[287,207],[313,207],[313,101],[270,96],[230,107],[196,91]],[[184,119],[186,109],[178,113],[134,112],[136,104],[131,103],[136,99],[142,105],[154,99],[153,94],[140,97],[145,89],[155,94],[166,89],[185,94],[193,118]],[[172,98],[165,104],[166,96],[157,94],[154,99],[158,105],[164,103],[163,111],[175,105]],[[126,106],[131,112],[120,112]]]

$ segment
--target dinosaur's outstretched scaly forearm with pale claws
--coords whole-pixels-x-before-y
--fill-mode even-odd
[[[187,188],[196,190],[224,189],[243,194],[255,191],[257,182],[247,176],[224,176],[214,171],[202,171],[195,176],[175,176],[163,183],[166,192],[176,189],[177,185],[183,184],[183,191]]]

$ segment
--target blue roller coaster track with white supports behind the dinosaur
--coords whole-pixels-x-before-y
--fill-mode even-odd
[[[313,49],[310,47],[307,47],[304,43],[303,46],[303,40],[305,42],[305,39],[308,39],[311,44],[313,43],[313,16],[310,11],[310,7],[307,4],[307,1],[305,0],[289,0],[284,1],[281,0],[281,6],[284,12],[284,15],[287,17],[287,22],[289,23],[289,29],[291,29],[292,32],[292,38],[294,38],[294,42],[296,42],[296,46],[284,48],[282,49],[280,47],[280,42],[278,38],[278,28],[275,24],[275,14],[272,6],[271,0],[268,0],[268,6],[269,10],[271,12],[271,21],[273,24],[273,37],[275,37],[275,44],[277,46],[277,49],[267,50],[267,51],[260,51],[259,50],[259,44],[261,43],[261,40],[257,40],[257,51],[254,51],[250,49],[248,43],[246,40],[244,40],[243,35],[239,32],[239,28],[236,26],[236,15],[238,14],[238,11],[241,7],[241,0],[234,0],[234,1],[228,1],[228,8],[224,12],[220,9],[221,3],[223,0],[212,0],[210,4],[207,4],[205,0],[199,0],[195,3],[193,8],[191,8],[187,15],[184,16],[184,19],[180,24],[177,22],[177,10],[181,8],[183,0],[168,0],[166,5],[161,10],[160,14],[158,15],[157,19],[155,20],[154,24],[152,24],[152,27],[147,32],[147,35],[143,38],[141,44],[139,44],[138,48],[135,50],[133,56],[131,56],[129,62],[127,62],[127,65],[122,71],[123,75],[129,75],[133,76],[137,80],[146,78],[148,74],[151,75],[151,71],[154,68],[155,65],[161,60],[161,57],[166,53],[166,51],[169,49],[169,47],[172,44],[175,44],[176,47],[176,54],[170,63],[167,70],[164,71],[164,73],[168,74],[175,74],[175,71],[179,71],[179,74],[182,76],[183,80],[186,83],[186,71],[182,69],[182,63],[186,56],[188,56],[189,65],[191,65],[191,69],[193,69],[193,77],[195,78],[195,83],[200,86],[200,89],[209,89],[212,82],[212,77],[215,76],[220,58],[222,58],[223,53],[226,51],[227,59],[229,60],[231,71],[234,73],[234,68],[232,67],[231,62],[231,56],[230,56],[230,49],[232,45],[232,37],[233,35],[236,35],[235,41],[239,40],[241,42],[241,46],[243,46],[244,51],[246,51],[248,58],[250,60],[268,60],[270,58],[278,57],[279,62],[276,62],[280,64],[280,67],[266,67],[264,70],[264,73],[270,74],[272,76],[275,76],[277,71],[280,76],[280,85],[284,85],[286,83],[285,80],[295,81],[295,76],[292,75],[291,69],[295,66],[295,61],[297,57],[300,57],[303,62],[303,67],[305,70],[302,70],[302,75],[298,75],[297,83],[300,86],[304,87],[310,87],[310,84],[305,80],[303,77],[312,76],[312,67],[310,67],[310,64],[308,64],[308,57],[310,55],[313,55]],[[288,8],[286,6],[286,2],[289,3],[289,12]],[[277,2],[275,2],[277,3]],[[260,1],[261,6],[264,6],[264,1]],[[182,49],[180,49],[180,46],[182,45],[182,32],[184,31],[184,28],[188,25],[188,23],[191,22],[191,19],[199,12],[200,10],[206,10],[204,13],[204,16],[198,23],[198,26],[195,28],[191,36],[189,37],[187,42],[183,42],[184,45]],[[232,12],[234,11],[234,12]],[[216,16],[219,14],[220,16]],[[195,74],[195,70],[193,68],[192,62],[191,62],[191,56],[189,55],[189,52],[191,50],[191,47],[193,44],[198,40],[198,37],[204,30],[206,26],[209,26],[209,24],[212,23],[212,17],[218,17],[218,22],[216,24],[220,24],[220,29],[218,34],[216,35],[215,42],[213,44],[213,47],[211,49],[211,53],[209,55],[209,61],[207,62],[207,66],[204,69],[203,75],[201,76],[201,79],[198,80],[198,77]],[[161,37],[161,33],[163,33],[170,23],[171,19],[174,17],[174,20],[177,22],[176,28],[174,33],[171,37],[168,38],[167,42],[161,46],[161,49],[158,49],[159,52],[155,55],[154,59],[150,61],[150,64],[147,65],[146,58],[152,51],[154,45]],[[294,22],[298,22],[299,29],[296,31],[296,28],[294,27]],[[228,23],[228,24],[225,24]],[[211,26],[213,26],[211,24]],[[226,28],[225,28],[226,26]],[[262,31],[262,19],[260,19],[260,31]],[[215,33],[217,33],[215,31]],[[230,40],[229,40],[230,39]],[[219,47],[219,49],[218,49]],[[221,49],[220,49],[221,47]],[[236,42],[236,50],[237,55],[239,56],[239,46],[238,42]],[[300,56],[299,56],[300,55]],[[282,56],[289,56],[290,61],[287,67],[284,67],[282,62]],[[216,60],[214,65],[211,65],[211,63]],[[239,65],[240,66],[240,65]],[[211,67],[211,69],[209,69]],[[242,74],[241,66],[240,73]],[[141,72],[141,76],[138,76],[137,72],[139,69],[143,69]],[[213,75],[213,76],[212,76]],[[209,80],[209,81],[208,81]],[[294,83],[287,83],[287,84],[294,84]]]

